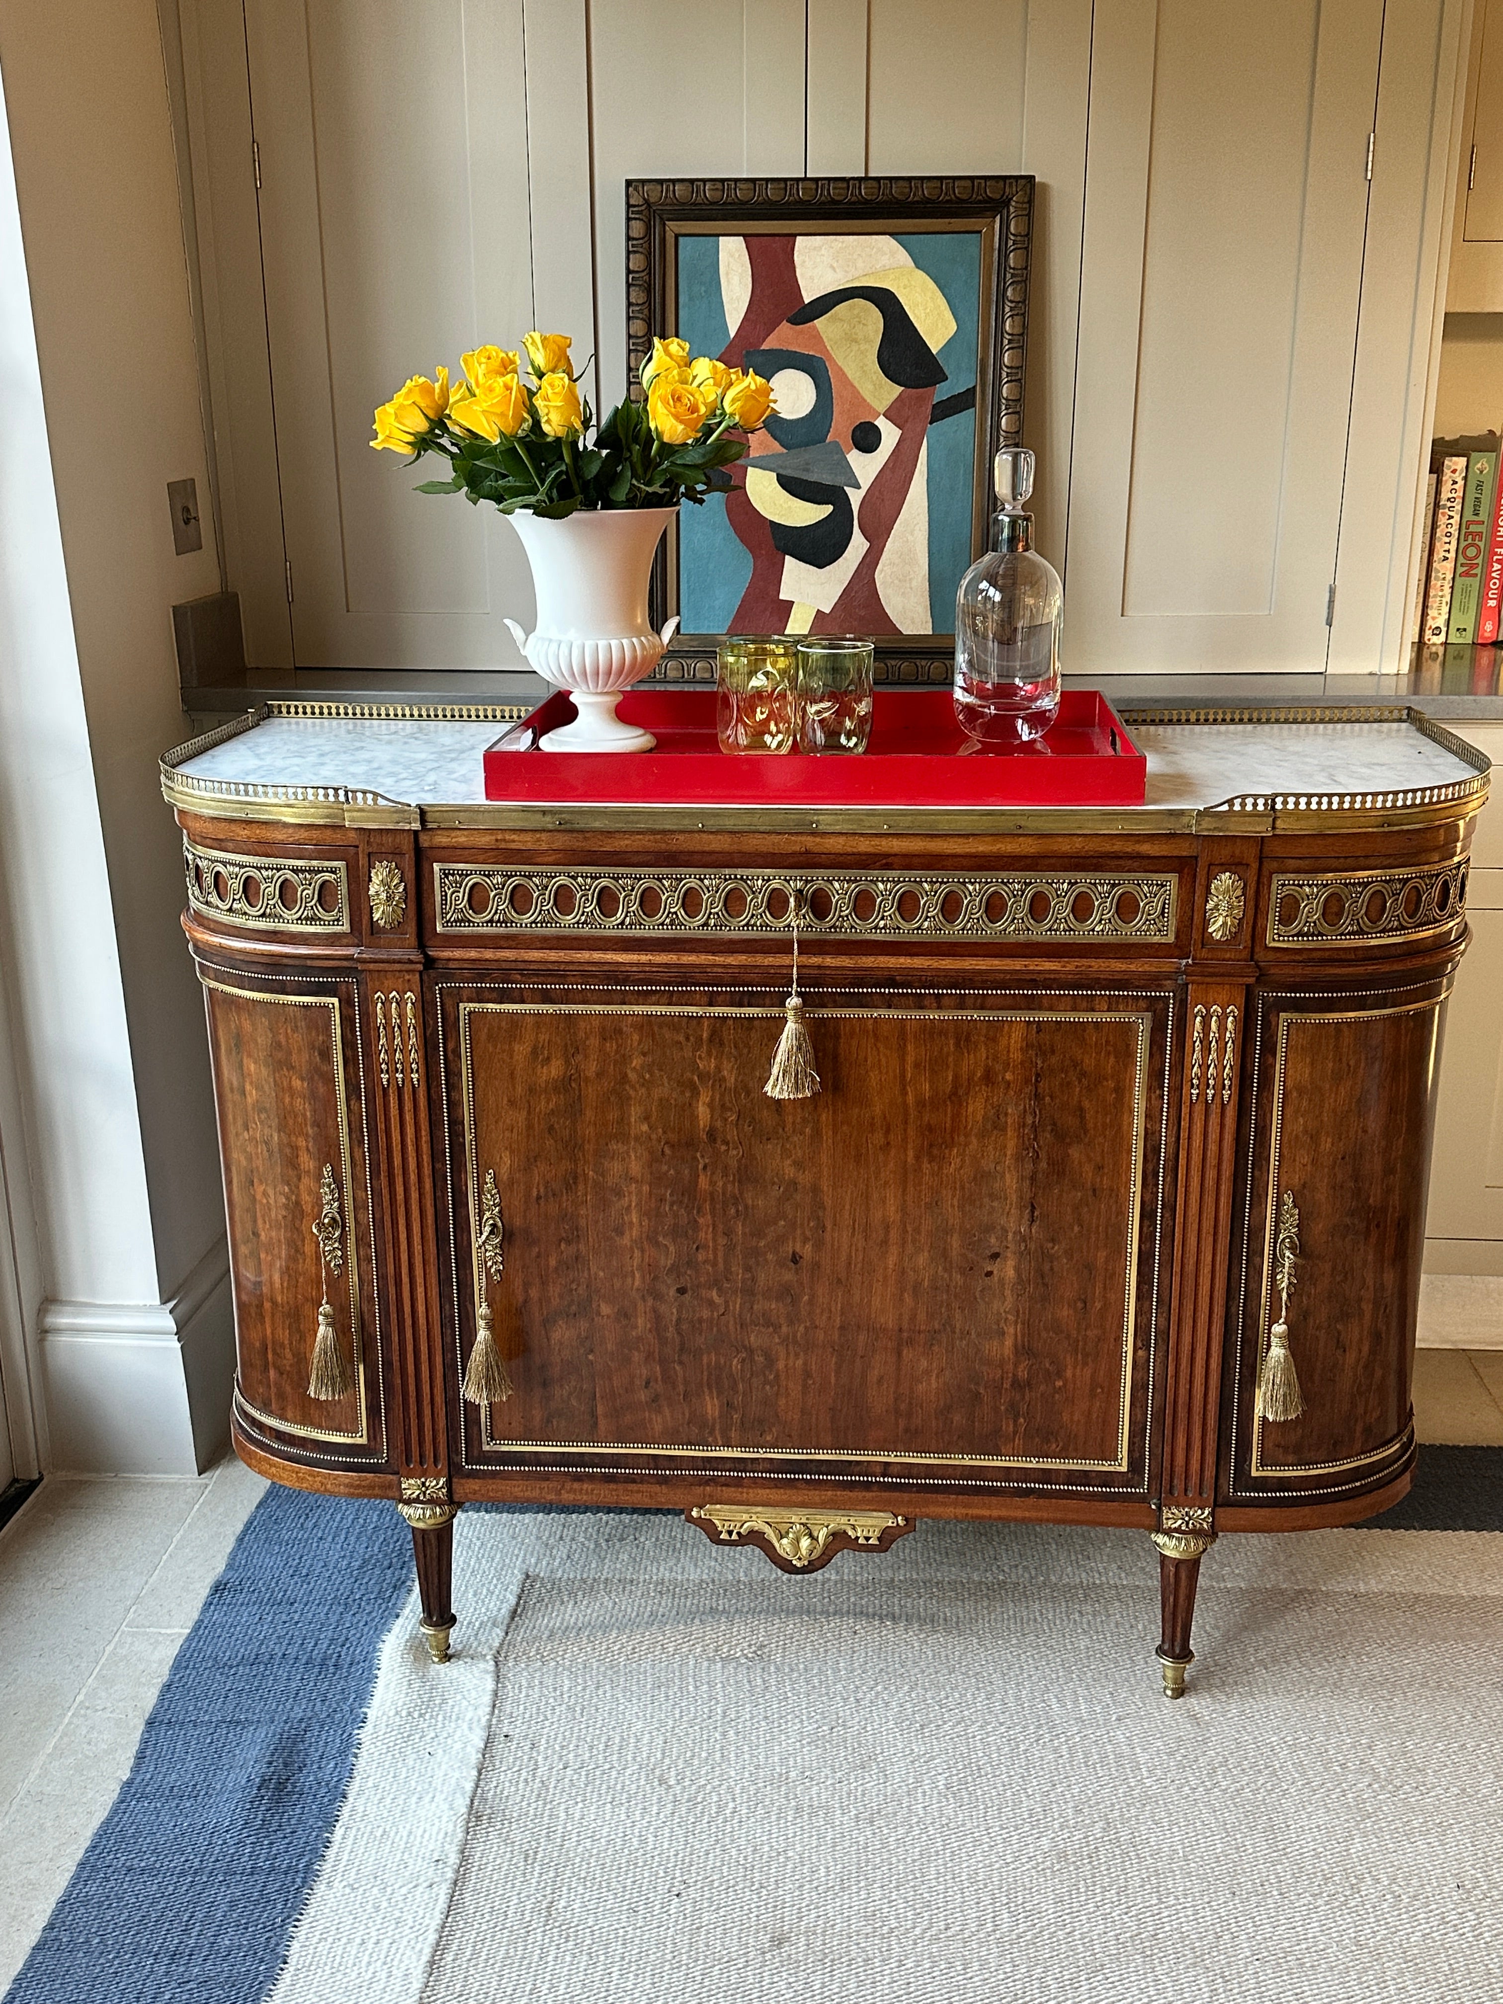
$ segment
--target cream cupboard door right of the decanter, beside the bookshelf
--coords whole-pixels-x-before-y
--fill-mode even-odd
[[[1327,657],[1383,0],[1098,0],[1066,669]]]

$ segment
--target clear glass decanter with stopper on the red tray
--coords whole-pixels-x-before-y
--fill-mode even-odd
[[[1060,707],[1060,615],[1064,591],[1034,549],[1034,455],[996,455],[992,547],[956,593],[956,717],[982,743],[1022,745],[1042,737]]]

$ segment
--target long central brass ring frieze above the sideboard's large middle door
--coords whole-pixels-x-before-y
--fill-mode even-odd
[[[435,864],[439,932],[1174,940],[1172,872],[1010,876],[782,870],[493,870]]]

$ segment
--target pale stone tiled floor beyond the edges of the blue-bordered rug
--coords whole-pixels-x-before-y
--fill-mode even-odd
[[[1419,1351],[1415,1423],[1421,1441],[1503,1447],[1503,1351]],[[196,1481],[52,1477],[0,1531],[0,1992],[265,1487],[238,1461]]]

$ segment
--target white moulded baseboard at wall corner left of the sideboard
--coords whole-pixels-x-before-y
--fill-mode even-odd
[[[224,1240],[172,1301],[42,1303],[52,1469],[196,1475],[228,1435],[234,1319]]]

